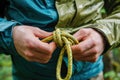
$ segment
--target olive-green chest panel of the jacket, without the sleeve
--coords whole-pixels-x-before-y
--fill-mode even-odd
[[[72,32],[101,18],[103,0],[56,0],[59,20],[56,28]]]

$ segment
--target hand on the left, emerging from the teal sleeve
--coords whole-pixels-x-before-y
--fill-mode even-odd
[[[54,42],[44,43],[40,39],[52,33],[32,26],[16,26],[13,28],[13,40],[17,52],[31,62],[47,63],[56,48]]]

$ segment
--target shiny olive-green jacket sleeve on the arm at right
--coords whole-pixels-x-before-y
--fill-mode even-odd
[[[105,9],[107,17],[97,20],[94,28],[105,36],[109,49],[120,47],[120,0],[111,0],[108,4],[105,3]]]

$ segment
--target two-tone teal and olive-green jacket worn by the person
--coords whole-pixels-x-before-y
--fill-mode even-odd
[[[0,53],[12,57],[14,80],[56,80],[55,69],[59,53],[59,49],[55,50],[47,64],[26,61],[17,53],[13,44],[12,28],[16,25],[36,26],[46,31],[60,28],[70,33],[80,28],[91,27],[99,31],[108,42],[105,52],[120,46],[119,0],[8,0],[8,2],[9,5],[4,9],[6,19],[2,18],[3,15],[0,18]],[[105,14],[104,18],[101,14]],[[66,64],[67,58],[64,57],[65,67]],[[74,61],[71,80],[87,80],[102,70],[102,56],[95,63]],[[62,74],[65,75],[64,72]]]

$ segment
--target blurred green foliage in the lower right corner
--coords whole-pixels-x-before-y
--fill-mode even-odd
[[[104,73],[105,80],[120,80],[120,48],[112,50],[113,69]]]

